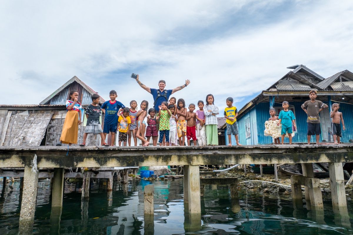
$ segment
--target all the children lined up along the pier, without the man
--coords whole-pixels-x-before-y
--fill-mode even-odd
[[[187,143],[190,146],[191,139],[194,145],[196,141],[199,146],[218,145],[217,132],[217,115],[219,109],[214,105],[214,97],[212,94],[206,96],[206,105],[202,100],[199,100],[197,106],[199,110],[195,111],[195,104],[189,105],[189,110],[185,107],[184,99],[171,97],[169,103],[162,102],[159,112],[156,113],[154,108],[148,109],[148,101],[143,100],[140,104],[140,109],[137,111],[137,102],[132,100],[130,108],[125,107],[121,102],[116,100],[116,91],[112,90],[109,93],[110,100],[99,105],[100,97],[93,94],[92,104],[87,107],[85,112],[87,125],[83,135],[83,142],[80,146],[85,146],[88,134],[99,134],[101,136],[101,144],[104,146],[113,146],[115,133],[119,132],[119,146],[127,143],[131,146],[131,137],[134,140],[134,146],[137,146],[137,139],[141,140],[143,146],[148,146],[150,138],[152,138],[153,146],[157,145],[157,137],[159,131],[160,146],[184,146],[185,136]],[[307,142],[310,144],[312,135],[316,135],[316,143],[319,143],[319,135],[321,133],[319,112],[328,106],[319,100],[316,100],[317,92],[310,91],[310,100],[305,101],[301,108],[307,113]],[[70,92],[70,100],[66,101],[67,114],[60,137],[61,143],[77,143],[78,125],[81,123],[81,105],[77,101],[78,92],[73,90]],[[224,111],[226,118],[227,134],[229,146],[232,146],[231,135],[235,136],[237,145],[241,146],[238,138],[237,116],[238,110],[233,106],[233,98],[228,97],[226,100],[227,107]],[[294,113],[289,110],[288,101],[282,103],[283,110],[276,115],[275,109],[270,109],[269,120],[279,120],[277,125],[281,125],[281,143],[283,144],[285,135],[288,133],[289,144],[292,143],[292,133],[297,128],[295,125]],[[345,125],[343,122],[342,113],[338,111],[339,104],[332,105],[333,111],[330,114],[333,122],[331,125],[334,143],[340,143],[341,137],[341,121],[343,130]],[[101,111],[104,113],[103,130],[100,124]],[[145,117],[147,116],[147,122]],[[110,143],[106,143],[106,135],[110,133]],[[279,144],[279,138],[274,140],[275,144]]]

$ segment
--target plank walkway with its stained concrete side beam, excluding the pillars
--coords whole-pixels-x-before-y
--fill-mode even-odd
[[[132,167],[165,165],[353,162],[353,144],[247,146],[0,146],[1,167]]]

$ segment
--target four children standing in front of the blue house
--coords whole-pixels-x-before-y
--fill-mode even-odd
[[[316,144],[319,143],[321,128],[320,128],[320,116],[319,112],[323,109],[326,109],[328,105],[322,103],[319,100],[316,100],[317,92],[312,90],[309,92],[310,100],[304,102],[301,105],[301,108],[307,114],[307,143],[310,144],[310,138],[312,135],[316,136]],[[292,133],[293,129],[296,130],[297,126],[295,125],[294,113],[288,109],[288,101],[283,101],[282,103],[283,110],[279,113],[279,116],[276,116],[276,110],[274,108],[270,109],[270,118],[269,120],[279,120],[277,125],[281,125],[281,142],[279,138],[274,139],[275,144],[283,144],[285,135],[288,134],[289,144],[292,144]],[[340,105],[337,103],[332,104],[332,111],[330,117],[332,118],[331,130],[333,134],[334,143],[340,143],[341,134],[341,121],[342,128],[345,130],[345,123],[343,121],[342,113],[338,111]]]

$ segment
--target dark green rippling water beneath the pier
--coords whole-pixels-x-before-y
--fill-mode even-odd
[[[114,185],[112,200],[107,200],[106,182],[91,185],[88,211],[81,210],[81,185],[66,184],[60,226],[50,221],[49,181],[40,181],[34,234],[144,234],[143,188],[148,181],[132,180],[127,188]],[[154,234],[353,234],[353,202],[348,200],[348,215],[332,211],[324,201],[324,215],[309,210],[294,210],[289,196],[263,196],[246,189],[239,191],[240,212],[231,211],[228,186],[205,186],[201,198],[201,218],[184,212],[183,180],[155,181]],[[0,185],[0,189],[2,185]],[[75,192],[75,190],[77,190]],[[17,234],[19,183],[9,186],[0,198],[0,234]],[[186,209],[187,211],[187,209]],[[50,231],[51,229],[51,231]],[[56,230],[56,231],[55,231]]]

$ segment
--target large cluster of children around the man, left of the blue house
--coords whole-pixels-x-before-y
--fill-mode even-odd
[[[116,100],[116,91],[109,92],[110,100],[104,102],[100,106],[100,97],[97,94],[92,95],[92,104],[87,107],[85,112],[87,125],[83,136],[83,142],[80,146],[85,146],[88,134],[99,134],[101,143],[104,146],[113,146],[115,133],[119,132],[119,146],[131,146],[131,137],[134,140],[134,146],[137,146],[137,139],[142,141],[143,146],[148,146],[150,138],[152,138],[153,146],[157,145],[157,137],[159,131],[160,146],[184,146],[185,137],[190,146],[191,139],[194,145],[196,141],[199,146],[218,145],[218,121],[217,115],[219,109],[214,105],[214,97],[212,94],[206,96],[206,105],[199,100],[197,106],[199,110],[195,111],[195,104],[189,105],[186,109],[184,99],[171,97],[169,103],[162,102],[159,112],[156,113],[154,108],[148,109],[148,101],[143,100],[140,109],[137,111],[137,101],[130,101],[130,108],[125,107],[121,102]],[[67,115],[65,118],[60,142],[61,143],[77,143],[78,125],[81,123],[81,105],[77,101],[78,91],[70,92],[70,100],[66,101]],[[227,131],[229,135],[229,145],[232,145],[231,135],[235,135],[237,145],[241,145],[238,140],[237,126],[237,108],[233,106],[233,98],[226,100],[227,108],[224,115],[227,123]],[[100,124],[101,111],[104,113],[103,129]],[[72,116],[72,117],[71,117]],[[147,122],[145,122],[147,117]],[[106,143],[106,135],[110,133],[110,143]]]

